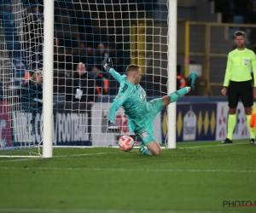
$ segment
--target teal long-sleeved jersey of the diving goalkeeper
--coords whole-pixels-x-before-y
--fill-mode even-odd
[[[108,120],[115,120],[115,112],[119,107],[123,107],[125,115],[128,118],[129,130],[133,132],[135,128],[143,127],[149,111],[147,95],[140,84],[134,85],[126,81],[126,76],[121,76],[115,72],[113,68],[110,73],[119,83],[119,93],[113,100],[113,104],[109,109]]]

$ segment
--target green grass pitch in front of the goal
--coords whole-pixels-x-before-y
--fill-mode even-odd
[[[0,158],[0,212],[256,212],[256,145],[177,143],[133,149],[55,148],[54,158]],[[237,203],[236,203],[237,204]]]

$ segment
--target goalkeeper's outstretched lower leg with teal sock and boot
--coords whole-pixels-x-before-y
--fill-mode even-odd
[[[196,78],[197,78],[196,73],[191,72],[189,74],[189,79],[188,79],[189,83],[186,87],[184,87],[183,89],[179,89],[176,92],[173,92],[173,93],[166,95],[162,98],[164,106],[166,107],[169,104],[176,102],[180,97],[189,93],[190,90],[193,90],[195,88]]]

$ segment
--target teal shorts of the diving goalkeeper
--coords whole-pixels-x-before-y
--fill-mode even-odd
[[[145,117],[145,125],[140,128],[137,127],[134,130],[134,133],[143,141],[143,146],[148,146],[149,142],[156,141],[154,137],[154,118],[158,112],[160,112],[163,107],[164,103],[161,99],[154,99],[149,101],[149,112],[148,116]]]

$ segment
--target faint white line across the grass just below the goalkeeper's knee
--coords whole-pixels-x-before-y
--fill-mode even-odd
[[[58,167],[0,167],[0,170],[94,170],[94,171],[143,171],[143,172],[225,172],[225,173],[256,173],[256,170],[175,170],[175,169],[114,169],[114,168],[58,168]]]

